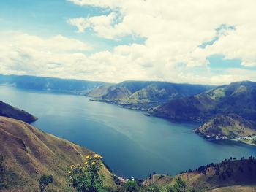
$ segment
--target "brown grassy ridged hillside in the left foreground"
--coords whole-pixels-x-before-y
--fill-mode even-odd
[[[83,164],[90,152],[23,121],[4,117],[0,117],[0,142],[0,153],[23,181],[24,186],[20,186],[23,191],[39,191],[38,180],[42,174],[52,174],[53,188],[64,191],[67,169],[72,164]],[[104,167],[102,174],[106,185],[114,185],[108,169]]]

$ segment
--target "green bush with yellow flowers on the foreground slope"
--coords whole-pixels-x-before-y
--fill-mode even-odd
[[[69,169],[69,185],[80,192],[105,192],[99,169],[103,166],[102,156],[91,153],[84,165],[72,165]]]

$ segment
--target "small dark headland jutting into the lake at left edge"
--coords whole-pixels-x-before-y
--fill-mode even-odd
[[[4,103],[3,101],[0,101],[0,116],[23,120],[26,123],[32,123],[37,120],[37,118],[30,113],[12,107],[9,104]]]

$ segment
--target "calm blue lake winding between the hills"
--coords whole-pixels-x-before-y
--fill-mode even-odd
[[[148,117],[85,96],[7,86],[0,86],[0,95],[0,100],[36,115],[33,126],[101,154],[122,177],[176,174],[230,156],[256,154],[256,147],[249,145],[203,139],[192,132],[200,124]]]

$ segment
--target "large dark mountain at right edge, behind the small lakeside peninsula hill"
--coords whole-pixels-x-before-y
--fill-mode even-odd
[[[196,96],[169,101],[151,112],[163,118],[200,122],[229,113],[256,120],[256,82],[233,82]]]

